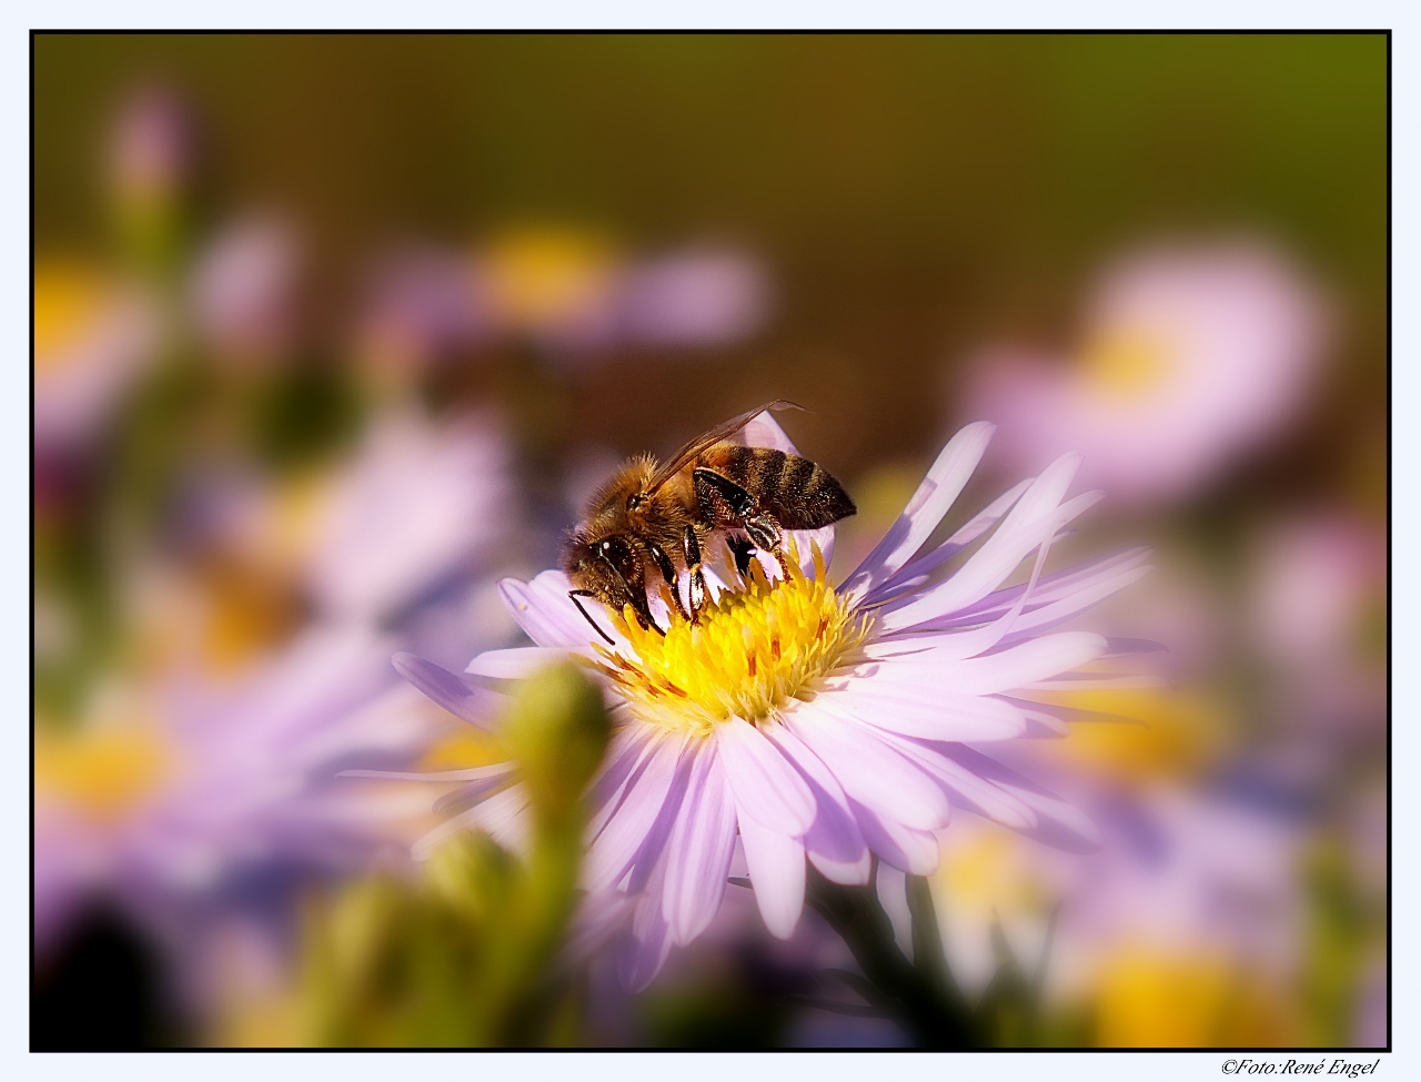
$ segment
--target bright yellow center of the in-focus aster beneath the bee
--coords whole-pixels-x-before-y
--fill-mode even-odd
[[[851,660],[868,633],[824,575],[814,548],[814,578],[790,559],[790,576],[770,582],[757,561],[742,591],[725,591],[701,622],[676,618],[665,636],[644,630],[631,608],[617,625],[634,656],[598,647],[598,667],[638,717],[706,734],[718,721],[759,724],[791,699],[810,699],[823,679]]]

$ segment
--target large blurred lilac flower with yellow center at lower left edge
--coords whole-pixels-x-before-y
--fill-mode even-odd
[[[389,649],[315,629],[234,687],[179,666],[111,686],[77,733],[38,727],[37,941],[95,892],[163,926],[243,869],[367,859],[398,815],[333,785],[338,770],[411,761],[443,724],[395,679]]]

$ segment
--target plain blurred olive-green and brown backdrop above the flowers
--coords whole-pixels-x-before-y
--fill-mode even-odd
[[[1336,409],[1384,386],[1383,34],[40,35],[36,240],[94,246],[115,95],[176,82],[213,133],[203,199],[287,207],[313,311],[408,234],[519,220],[632,247],[730,236],[782,284],[773,329],[648,409],[651,351],[583,373],[574,433],[665,449],[790,395],[853,476],[942,433],[945,361],[1057,334],[1079,283],[1158,233],[1262,229],[1336,284]],[[793,393],[791,393],[793,392]],[[675,440],[671,439],[674,443]]]

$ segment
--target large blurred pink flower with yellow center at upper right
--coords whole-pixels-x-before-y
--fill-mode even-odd
[[[1323,324],[1313,288],[1263,246],[1148,250],[1100,284],[1069,364],[988,352],[966,408],[999,419],[1025,469],[1076,449],[1113,497],[1174,500],[1293,420]]]

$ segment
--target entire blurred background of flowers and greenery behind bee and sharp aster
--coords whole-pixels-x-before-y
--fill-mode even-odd
[[[335,775],[495,754],[389,655],[774,398],[840,576],[976,419],[959,520],[1079,450],[1059,558],[1155,548],[1091,626],[1169,686],[1073,701],[1144,724],[1017,748],[1104,849],[942,835],[969,995],[1060,906],[993,1039],[1387,1044],[1384,35],[38,35],[33,106],[36,1047],[426,1039],[320,976],[453,920],[428,791]],[[907,1041],[739,895],[549,1032]]]

